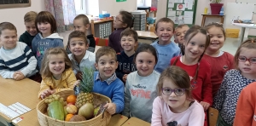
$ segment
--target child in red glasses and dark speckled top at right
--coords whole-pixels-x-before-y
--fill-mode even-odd
[[[236,69],[225,73],[213,100],[213,107],[219,112],[217,125],[233,125],[241,89],[256,81],[256,39],[249,38],[241,43],[234,60]]]

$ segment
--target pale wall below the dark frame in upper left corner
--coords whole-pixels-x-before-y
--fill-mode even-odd
[[[40,12],[45,10],[44,0],[31,0],[31,7],[0,9],[0,22],[8,21],[13,23],[18,31],[18,37],[26,31],[23,17],[28,11]]]

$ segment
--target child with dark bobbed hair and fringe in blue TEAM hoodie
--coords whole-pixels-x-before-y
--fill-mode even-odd
[[[38,13],[35,25],[38,34],[32,40],[32,52],[38,60],[38,70],[40,71],[41,63],[44,57],[44,51],[49,48],[62,47],[63,37],[60,37],[57,31],[55,18],[48,11]]]

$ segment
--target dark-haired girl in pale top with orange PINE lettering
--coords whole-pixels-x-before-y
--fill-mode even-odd
[[[157,96],[155,87],[160,77],[160,73],[154,71],[158,60],[156,50],[152,45],[143,43],[134,54],[134,60],[137,71],[128,74],[125,83],[123,114],[150,123],[153,101]]]

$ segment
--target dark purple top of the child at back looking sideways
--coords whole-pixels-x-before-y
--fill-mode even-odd
[[[124,30],[125,28],[117,29],[113,31],[109,36],[108,46],[112,47],[116,53],[120,53],[121,51],[123,51],[123,48],[121,47],[121,44],[120,44],[120,39],[121,39],[120,36],[121,36],[121,32]]]

